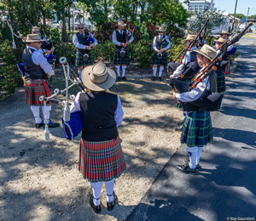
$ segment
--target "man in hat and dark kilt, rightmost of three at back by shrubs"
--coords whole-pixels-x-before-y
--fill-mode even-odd
[[[168,37],[164,34],[166,32],[164,27],[160,27],[158,30],[158,36],[154,37],[153,49],[154,49],[154,66],[153,66],[153,78],[155,80],[155,75],[157,71],[157,65],[160,65],[158,80],[162,81],[162,72],[164,66],[167,65],[167,54],[166,50],[170,48],[171,43]]]

